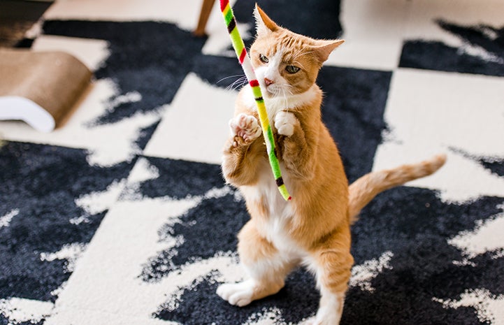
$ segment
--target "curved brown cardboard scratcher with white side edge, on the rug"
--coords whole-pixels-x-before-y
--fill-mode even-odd
[[[0,120],[50,132],[68,118],[91,76],[65,52],[0,49]]]

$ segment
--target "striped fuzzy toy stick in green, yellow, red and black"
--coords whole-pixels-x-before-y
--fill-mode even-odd
[[[266,111],[266,106],[264,106],[264,99],[261,93],[261,87],[259,87],[259,81],[254,73],[254,68],[252,68],[252,63],[250,62],[250,57],[247,55],[247,50],[245,49],[245,43],[240,36],[240,32],[236,27],[236,19],[233,15],[233,10],[229,5],[229,0],[220,0],[220,10],[222,11],[222,16],[224,17],[224,22],[226,22],[227,31],[229,36],[231,36],[231,43],[233,43],[233,48],[236,52],[236,57],[240,61],[243,72],[250,84],[252,93],[254,94],[254,99],[257,105],[257,112],[259,113],[259,120],[261,121],[261,128],[263,130],[263,136],[266,140],[266,150],[268,151],[268,158],[271,165],[271,170],[275,176],[275,182],[278,186],[278,191],[282,194],[282,197],[286,201],[291,200],[289,192],[287,192],[287,187],[285,187],[284,181],[282,180],[282,173],[280,172],[280,164],[275,155],[275,139],[273,138],[273,131],[271,130],[271,125],[268,119],[268,112]]]

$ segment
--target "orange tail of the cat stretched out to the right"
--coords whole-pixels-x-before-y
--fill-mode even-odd
[[[363,175],[349,187],[349,215],[351,222],[357,220],[357,215],[377,194],[403,185],[410,180],[416,180],[431,175],[445,164],[446,155],[438,154],[431,159],[417,164],[398,166],[393,169],[374,171]]]

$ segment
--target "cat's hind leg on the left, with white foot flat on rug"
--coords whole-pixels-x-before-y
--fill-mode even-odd
[[[276,294],[285,284],[285,277],[297,261],[282,256],[268,240],[259,235],[250,220],[238,234],[238,253],[247,272],[247,280],[226,283],[217,294],[231,305],[240,307],[254,300]]]

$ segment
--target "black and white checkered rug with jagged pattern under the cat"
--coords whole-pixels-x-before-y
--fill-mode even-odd
[[[252,40],[254,1],[234,4]],[[318,83],[350,180],[445,152],[354,225],[341,324],[504,324],[504,2],[259,1],[279,24],[345,38]],[[303,269],[237,308],[244,202],[220,175],[242,74],[199,0],[57,1],[31,48],[95,74],[62,128],[0,122],[0,324],[299,324]],[[25,42],[26,43],[26,42]],[[3,78],[3,77],[2,77]]]

